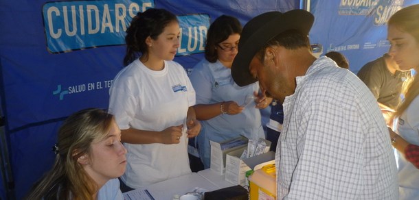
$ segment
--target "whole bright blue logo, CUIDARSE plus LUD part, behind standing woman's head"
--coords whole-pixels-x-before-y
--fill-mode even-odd
[[[126,28],[153,1],[63,1],[45,3],[43,19],[50,53],[124,45]],[[179,16],[181,47],[177,55],[202,53],[210,16]]]

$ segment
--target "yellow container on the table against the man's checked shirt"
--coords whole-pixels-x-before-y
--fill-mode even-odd
[[[276,178],[275,164],[267,164],[249,176],[250,200],[275,200]]]

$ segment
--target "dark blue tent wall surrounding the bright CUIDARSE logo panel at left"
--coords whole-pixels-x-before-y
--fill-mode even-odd
[[[122,68],[125,53],[124,45],[50,53],[43,8],[52,2],[76,1],[0,1],[1,111],[5,116],[6,148],[16,199],[21,199],[51,168],[54,162],[51,147],[63,119],[82,108],[107,108],[109,81]],[[85,2],[100,5],[111,1]],[[229,14],[238,17],[243,25],[262,12],[299,8],[297,0],[147,2],[179,16],[207,14],[211,21]],[[202,53],[197,53],[177,56],[175,60],[185,68],[192,68],[202,58]],[[78,91],[78,87],[90,83],[95,86],[93,90]],[[70,88],[72,93],[65,95],[64,91],[71,92]],[[0,186],[0,198],[6,199],[6,188]]]

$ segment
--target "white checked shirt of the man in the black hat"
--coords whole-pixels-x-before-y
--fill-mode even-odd
[[[278,199],[398,199],[384,118],[356,75],[321,57],[283,106]]]

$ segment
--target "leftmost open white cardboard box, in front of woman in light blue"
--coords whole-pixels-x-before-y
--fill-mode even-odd
[[[247,147],[248,141],[249,140],[243,136],[225,140],[223,142],[214,142],[210,140],[211,170],[215,171],[218,175],[223,175],[225,173],[225,159],[227,153],[236,149],[244,150]]]

